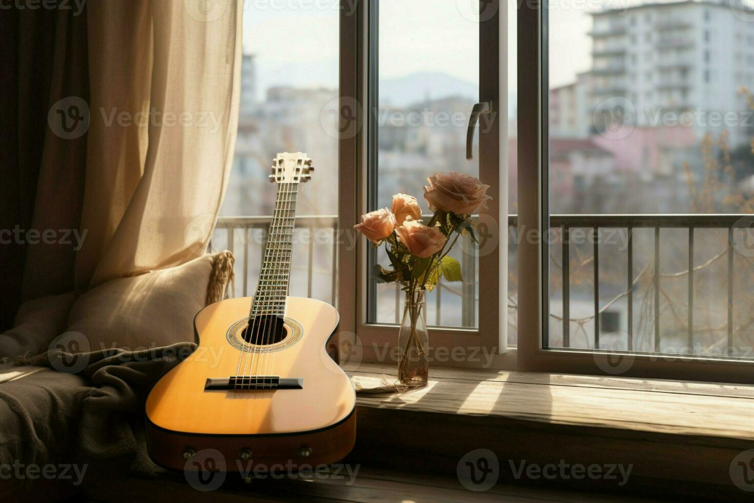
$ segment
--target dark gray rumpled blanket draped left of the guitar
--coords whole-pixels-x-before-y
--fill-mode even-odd
[[[33,372],[0,381],[0,500],[23,493],[35,501],[38,489],[61,482],[63,470],[63,483],[73,486],[97,469],[159,473],[146,454],[146,396],[195,348],[184,342],[144,351],[56,350],[20,360]],[[50,477],[41,475],[45,465]]]

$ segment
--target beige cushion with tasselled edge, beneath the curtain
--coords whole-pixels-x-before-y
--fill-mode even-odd
[[[68,332],[56,343],[71,352],[84,352],[193,342],[195,315],[222,299],[232,268],[232,254],[225,251],[107,281],[76,299]]]

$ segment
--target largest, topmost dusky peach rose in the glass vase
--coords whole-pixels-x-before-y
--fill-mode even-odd
[[[474,176],[450,172],[437,173],[427,179],[425,199],[432,210],[443,210],[456,215],[474,213],[481,204],[489,199],[487,189]]]

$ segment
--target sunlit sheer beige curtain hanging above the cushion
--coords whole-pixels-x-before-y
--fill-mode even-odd
[[[188,262],[238,127],[241,0],[87,3],[90,128],[75,285]]]

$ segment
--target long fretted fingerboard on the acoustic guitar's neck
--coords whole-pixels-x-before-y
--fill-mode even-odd
[[[249,313],[252,319],[261,314],[282,316],[285,313],[298,188],[298,183],[280,183],[277,186],[277,201],[270,223],[262,271]]]

